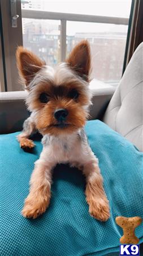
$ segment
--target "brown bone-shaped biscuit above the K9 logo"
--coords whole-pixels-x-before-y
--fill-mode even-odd
[[[120,238],[120,243],[137,244],[139,242],[139,239],[135,236],[135,229],[141,224],[142,218],[118,216],[115,221],[123,229],[123,237]]]

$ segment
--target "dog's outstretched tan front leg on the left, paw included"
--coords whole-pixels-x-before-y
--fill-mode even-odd
[[[30,192],[25,199],[22,214],[27,218],[37,218],[45,212],[50,203],[51,164],[37,160],[31,176]]]

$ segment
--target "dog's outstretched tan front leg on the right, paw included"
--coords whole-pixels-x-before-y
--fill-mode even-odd
[[[96,157],[93,156],[91,161],[84,164],[83,172],[86,176],[85,195],[89,213],[97,220],[106,221],[110,217],[109,201],[103,189],[103,178]]]

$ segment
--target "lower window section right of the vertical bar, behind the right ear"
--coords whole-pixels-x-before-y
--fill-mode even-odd
[[[128,26],[67,22],[67,55],[75,44],[88,39],[92,53],[92,78],[118,84],[122,76]]]

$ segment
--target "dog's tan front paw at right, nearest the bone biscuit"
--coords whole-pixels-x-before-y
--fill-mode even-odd
[[[107,221],[110,217],[110,208],[109,202],[105,198],[99,198],[90,200],[89,204],[89,213],[92,217],[97,218],[99,221]]]

